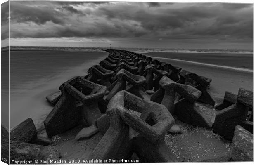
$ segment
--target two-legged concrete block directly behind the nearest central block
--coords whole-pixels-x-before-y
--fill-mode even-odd
[[[142,84],[146,82],[146,79],[143,76],[134,75],[125,69],[121,69],[116,74],[116,78],[117,80],[109,87],[110,92],[106,97],[107,101],[110,101],[110,99],[120,90],[126,90],[126,82],[133,85],[133,87],[129,89],[130,92],[133,92],[133,94],[143,98]]]

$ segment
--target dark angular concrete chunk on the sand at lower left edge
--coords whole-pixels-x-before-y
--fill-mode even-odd
[[[10,132],[10,140],[30,143],[36,139],[37,130],[31,118],[26,119]]]

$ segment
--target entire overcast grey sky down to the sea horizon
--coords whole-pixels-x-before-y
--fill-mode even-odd
[[[11,45],[252,49],[253,5],[10,1],[10,27]]]

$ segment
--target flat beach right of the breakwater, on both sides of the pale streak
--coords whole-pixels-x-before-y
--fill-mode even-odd
[[[190,54],[190,53],[148,53],[145,55],[152,55],[159,61],[164,61],[178,66],[187,71],[196,73],[207,78],[211,78],[212,82],[209,91],[214,97],[223,98],[225,91],[237,94],[240,87],[253,91],[253,72],[239,71],[235,69],[222,68],[210,65],[194,64],[190,61],[200,62],[204,64],[214,64],[222,66],[231,66],[241,68],[239,66],[246,66],[251,68],[253,66],[252,55],[247,54]],[[195,58],[194,58],[195,56]],[[222,57],[230,57],[230,59]],[[220,57],[220,58],[218,58]],[[236,58],[237,57],[237,58]],[[239,59],[244,60],[239,61]],[[170,58],[170,59],[169,59]],[[209,60],[209,59],[215,60]],[[174,59],[182,59],[184,61],[177,61]],[[242,62],[246,61],[246,62]],[[225,65],[227,64],[227,65]],[[249,70],[251,70],[249,69]]]

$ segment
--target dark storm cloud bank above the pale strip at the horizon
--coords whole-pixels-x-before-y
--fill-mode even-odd
[[[252,40],[253,5],[11,2],[13,38]],[[161,39],[161,40],[162,40]]]

